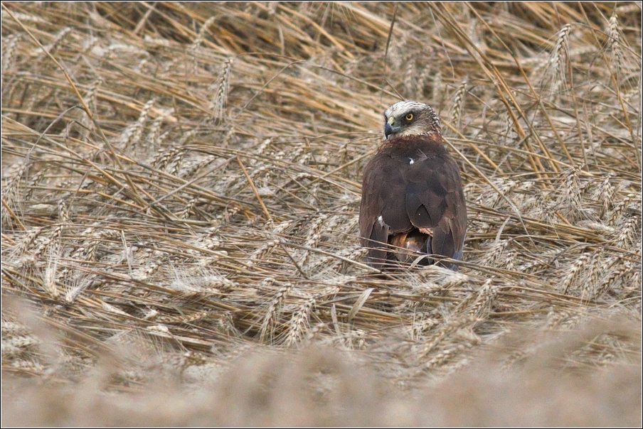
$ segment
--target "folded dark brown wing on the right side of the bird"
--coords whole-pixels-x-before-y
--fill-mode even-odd
[[[406,165],[405,215],[431,232],[431,254],[460,259],[467,228],[467,207],[457,163],[450,157],[418,158]]]

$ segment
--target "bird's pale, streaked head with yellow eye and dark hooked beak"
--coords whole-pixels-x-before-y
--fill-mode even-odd
[[[440,118],[428,104],[397,102],[384,112],[384,140],[435,133],[442,134]]]

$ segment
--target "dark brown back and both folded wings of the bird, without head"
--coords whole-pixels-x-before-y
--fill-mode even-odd
[[[378,148],[364,170],[359,227],[373,266],[391,259],[391,237],[420,228],[432,231],[430,254],[460,259],[467,208],[457,163],[440,135],[398,137]]]

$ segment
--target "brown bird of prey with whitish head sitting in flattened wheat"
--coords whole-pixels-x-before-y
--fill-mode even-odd
[[[440,118],[427,104],[393,104],[384,112],[384,141],[364,170],[359,230],[366,262],[383,269],[423,254],[459,260],[466,229],[460,173],[442,141]]]

